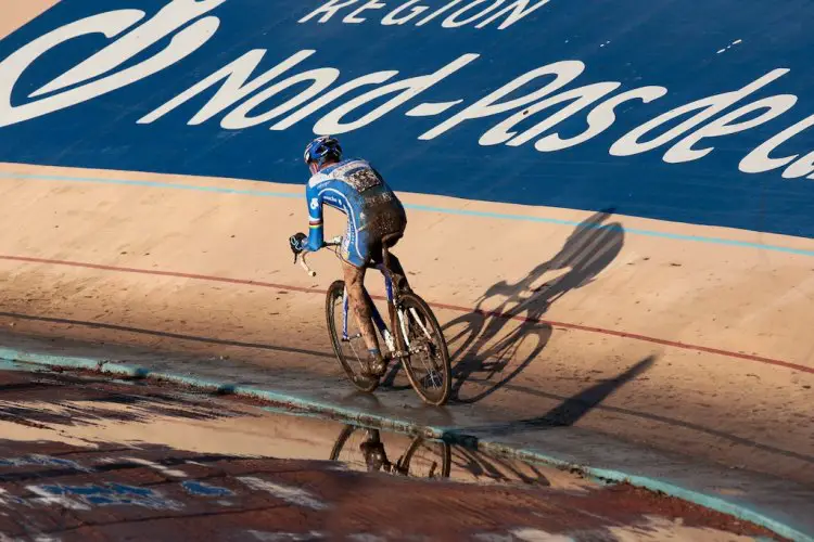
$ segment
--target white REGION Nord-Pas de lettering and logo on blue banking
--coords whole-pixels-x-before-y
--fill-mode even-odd
[[[87,102],[136,83],[185,60],[217,31],[220,21],[208,15],[208,12],[224,2],[225,0],[173,0],[147,21],[147,14],[141,10],[110,11],[66,24],[34,39],[0,61],[0,127]],[[383,9],[385,3],[385,0],[329,0],[302,21],[325,22],[349,8],[344,13],[344,20],[359,24],[366,18],[363,14],[369,16]],[[411,0],[393,10],[382,20],[382,24],[400,25],[418,21],[415,24],[420,26],[437,18],[443,21],[442,26],[460,26],[475,21],[480,21],[476,25],[480,26],[497,21],[496,16],[508,15],[504,21],[508,26],[545,3],[532,4],[527,0],[509,3],[507,0],[451,0],[431,11],[434,8]],[[12,104],[13,95],[20,102],[17,94],[21,93],[21,78],[41,56],[59,49],[63,43],[93,34],[100,34],[111,42],[101,50],[92,51],[87,59],[28,94],[28,102]],[[158,44],[161,47],[156,47]],[[393,80],[399,72],[381,70],[358,75],[340,83],[338,81],[342,74],[335,67],[309,66],[297,70],[301,63],[306,60],[311,62],[316,52],[313,49],[297,51],[264,72],[260,63],[266,57],[267,50],[250,50],[158,105],[138,119],[138,122],[155,122],[215,89],[214,95],[194,113],[188,125],[201,125],[222,114],[219,125],[227,130],[246,129],[269,121],[276,124],[268,129],[285,130],[325,108],[328,109],[327,113],[314,121],[313,131],[345,133],[361,129],[407,105],[480,57],[475,53],[461,54],[433,73],[400,80]],[[610,129],[616,121],[622,104],[633,101],[649,104],[667,94],[667,89],[659,86],[615,93],[621,88],[618,81],[567,88],[582,77],[584,70],[583,62],[568,60],[520,74],[469,105],[465,103],[418,139],[433,140],[465,122],[498,117],[494,119],[496,124],[480,137],[481,145],[519,146],[536,140],[534,147],[537,151],[555,152],[582,144]],[[613,156],[632,156],[671,145],[662,157],[665,163],[701,159],[714,151],[711,143],[716,138],[754,129],[780,117],[797,104],[798,98],[792,94],[747,101],[750,94],[788,72],[787,68],[773,69],[738,90],[701,98],[661,113],[628,130],[612,143],[609,153]],[[284,101],[274,100],[292,88],[298,90],[293,96],[292,92],[287,92]],[[356,92],[359,89],[364,91]],[[345,100],[346,96],[349,98]],[[386,100],[379,103],[382,99]],[[462,102],[466,100],[414,103],[405,107],[404,114],[410,117],[443,115]],[[367,111],[373,103],[379,105]],[[562,139],[558,133],[546,134],[563,120],[583,111],[587,111],[587,128],[581,133],[568,139]],[[354,118],[356,112],[365,113]],[[534,124],[527,126],[526,122]],[[665,126],[671,128],[664,129]],[[778,147],[812,126],[814,115],[767,139],[740,160],[739,170],[760,173],[785,168],[781,173],[784,178],[814,179],[814,152],[802,156],[778,152]],[[773,153],[779,156],[773,157]]]

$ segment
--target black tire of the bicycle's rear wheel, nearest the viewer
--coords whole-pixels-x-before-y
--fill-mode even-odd
[[[405,356],[404,358],[402,358],[402,365],[407,373],[407,378],[410,380],[412,389],[416,390],[416,393],[418,393],[421,400],[434,406],[442,406],[449,400],[449,396],[453,391],[453,367],[449,361],[449,351],[447,349],[446,339],[444,338],[444,333],[441,330],[441,325],[438,324],[435,314],[433,313],[427,301],[424,301],[423,299],[421,299],[421,297],[414,293],[402,294],[398,299],[398,307],[399,311],[408,311],[410,309],[415,309],[417,312],[421,313],[424,323],[430,324],[433,335],[440,338],[437,350],[438,354],[441,356],[441,366],[433,369],[436,371],[440,370],[444,377],[444,384],[443,386],[438,387],[437,392],[427,392],[425,388],[420,384],[420,377],[416,374],[410,363],[414,354]],[[397,315],[396,319],[398,319]],[[395,334],[398,340],[398,349],[402,351],[407,350],[407,343],[404,337],[404,330],[400,325],[400,322],[393,322],[393,325],[398,327],[398,332]],[[433,365],[435,365],[435,363],[433,363]]]

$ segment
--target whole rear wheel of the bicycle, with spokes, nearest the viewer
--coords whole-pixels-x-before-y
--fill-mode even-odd
[[[444,334],[432,309],[419,296],[405,293],[396,313],[398,349],[410,385],[429,404],[441,406],[453,390],[453,370]]]

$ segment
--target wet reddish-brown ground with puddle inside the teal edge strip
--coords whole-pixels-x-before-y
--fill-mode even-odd
[[[0,371],[3,541],[767,534],[677,500],[443,442],[149,380],[18,369]],[[369,472],[382,449],[400,474]]]

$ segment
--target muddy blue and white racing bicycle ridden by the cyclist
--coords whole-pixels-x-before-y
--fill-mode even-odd
[[[342,241],[343,237],[338,236],[325,243],[323,246],[331,248],[334,255],[340,257],[338,247],[342,244]],[[387,237],[382,240],[382,263],[369,266],[369,268],[378,269],[384,275],[390,327],[384,323],[379,310],[372,302],[367,291],[365,291],[365,296],[371,307],[374,326],[386,345],[386,351],[383,352],[383,357],[385,360],[400,360],[410,386],[412,386],[412,389],[416,390],[421,400],[425,403],[441,406],[446,404],[451,393],[453,370],[446,339],[435,314],[427,301],[414,292],[402,292],[398,285],[392,280],[390,271],[390,241],[392,240]],[[317,273],[308,267],[306,261],[307,254],[302,254],[302,258],[300,258],[301,264],[310,276],[316,276]],[[294,254],[294,263],[296,261],[297,254]],[[342,301],[341,333],[338,333],[338,322],[334,311],[340,300]],[[348,305],[345,282],[342,280],[334,281],[328,288],[326,296],[326,320],[333,351],[353,385],[363,391],[372,392],[379,387],[381,377],[367,376],[361,374],[361,372],[359,374],[355,373],[347,357],[342,351],[343,344],[349,345],[357,358],[359,369],[365,367],[366,360],[359,357],[357,349],[354,347],[354,341],[361,339],[361,333],[353,336],[349,336],[347,333]],[[394,334],[391,330],[397,330],[397,332]],[[433,340],[433,336],[437,339]],[[360,351],[367,353],[364,340]],[[427,354],[427,358],[429,358],[429,364],[424,361],[423,354]],[[423,366],[427,370],[424,375],[418,374],[418,370],[412,364],[414,358],[417,357],[421,358]],[[438,358],[437,362],[435,361],[436,358]]]

